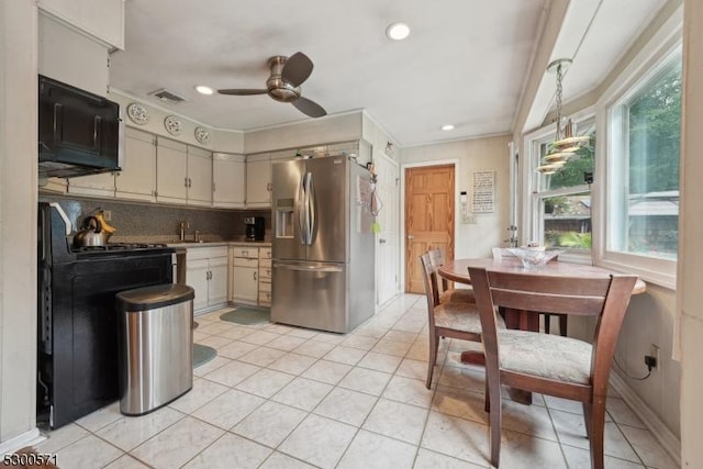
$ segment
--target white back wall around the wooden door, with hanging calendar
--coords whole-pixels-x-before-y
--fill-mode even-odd
[[[456,257],[490,257],[491,248],[503,245],[510,236],[510,158],[509,135],[454,141],[448,143],[402,148],[402,167],[440,160],[457,160],[456,213],[459,214],[459,193],[471,193],[471,172],[495,170],[495,212],[473,214],[475,224],[459,223],[456,231]],[[404,170],[401,174],[404,180]],[[404,186],[403,186],[404,187]],[[404,220],[404,216],[401,215]],[[457,216],[460,222],[460,216]]]

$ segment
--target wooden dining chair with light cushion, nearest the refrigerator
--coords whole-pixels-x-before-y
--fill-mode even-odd
[[[432,264],[429,253],[420,256],[420,264],[422,265],[425,295],[427,298],[429,356],[425,386],[429,389],[435,365],[437,364],[439,338],[449,337],[461,340],[481,342],[481,321],[476,303],[439,302],[437,269]],[[500,316],[499,326],[505,326],[503,319]]]

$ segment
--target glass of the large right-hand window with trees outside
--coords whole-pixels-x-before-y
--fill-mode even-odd
[[[681,60],[677,47],[610,107],[610,253],[677,258]]]

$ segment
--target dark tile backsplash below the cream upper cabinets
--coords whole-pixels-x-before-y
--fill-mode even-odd
[[[79,198],[75,196],[40,194],[40,202],[58,202],[74,230],[82,226],[83,219],[97,209],[111,212],[111,226],[116,228],[111,242],[171,242],[180,234],[180,222],[187,221],[187,239],[196,230],[208,241],[239,241],[244,236],[245,216],[264,216],[266,235],[271,228],[269,210],[224,210],[190,208],[156,203],[115,201],[114,199]]]

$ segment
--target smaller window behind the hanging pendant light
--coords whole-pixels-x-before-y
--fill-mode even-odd
[[[580,123],[579,135],[590,136],[589,144],[574,153],[566,165],[553,175],[536,171],[554,139],[549,133],[533,141],[532,230],[528,241],[567,250],[567,256],[588,257],[592,243],[591,188],[595,164],[595,125],[593,120]]]

